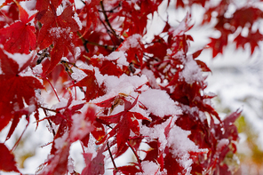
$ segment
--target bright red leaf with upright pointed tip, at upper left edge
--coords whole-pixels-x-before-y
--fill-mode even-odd
[[[29,53],[29,50],[35,50],[36,48],[36,28],[30,26],[28,22],[35,18],[35,15],[28,16],[20,4],[20,21],[14,22],[12,25],[0,30],[0,35],[4,36],[3,40],[0,40],[4,44],[4,50],[7,52],[15,53]]]

